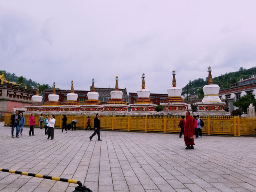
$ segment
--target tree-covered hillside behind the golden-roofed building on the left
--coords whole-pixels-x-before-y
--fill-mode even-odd
[[[2,72],[4,72],[4,76],[5,76],[6,80],[8,80],[10,82],[16,82],[16,83],[22,84],[21,85],[22,88],[25,88],[25,86],[28,90],[32,90],[32,89],[36,88],[37,82],[32,81],[31,79],[27,80],[26,77],[23,77],[23,76],[18,77],[18,76],[16,76],[16,74],[6,72],[5,70],[0,71],[0,74],[2,74]],[[39,85],[39,93],[42,93],[43,89],[52,89],[53,88],[52,86],[49,86],[49,84],[38,83],[38,85]]]

